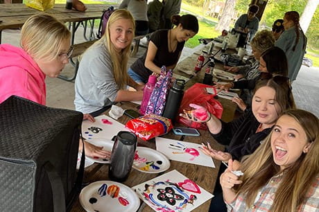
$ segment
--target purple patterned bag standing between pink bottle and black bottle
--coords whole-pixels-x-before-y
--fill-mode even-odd
[[[162,116],[165,108],[166,98],[172,85],[172,70],[166,71],[166,67],[162,67],[161,75],[157,79],[155,87],[150,95],[150,100],[146,106],[145,114],[156,114]]]

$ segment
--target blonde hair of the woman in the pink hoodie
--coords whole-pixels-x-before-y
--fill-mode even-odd
[[[52,61],[62,51],[64,39],[70,39],[67,26],[46,13],[31,16],[21,28],[20,45],[33,59]]]

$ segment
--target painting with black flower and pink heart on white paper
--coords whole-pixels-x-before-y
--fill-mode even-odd
[[[177,170],[132,187],[154,211],[192,211],[213,195]]]

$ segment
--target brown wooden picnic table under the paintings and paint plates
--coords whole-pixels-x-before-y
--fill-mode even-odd
[[[204,48],[206,48],[206,46]],[[198,55],[196,54],[190,55],[187,59],[183,60],[182,62],[178,64],[174,72],[178,72],[179,75],[187,77],[187,74],[184,74],[178,71],[178,69],[193,70],[193,66],[195,66],[197,57]],[[203,73],[198,73],[196,77],[191,78],[191,80],[187,82],[187,87],[190,87],[196,82],[202,82],[202,76],[203,76]],[[224,107],[224,112],[222,117],[223,121],[231,121],[234,118],[236,105],[232,103],[231,100],[227,100],[225,98],[220,98],[218,100],[221,102],[221,104]],[[139,108],[139,105],[135,103],[117,103],[117,105],[122,107],[123,109],[135,109],[136,111],[138,111],[138,108]],[[108,114],[108,112],[106,112],[105,114]],[[119,118],[118,121],[120,123],[125,124],[129,120],[130,118],[128,116],[121,116],[121,118]],[[163,137],[167,139],[182,140],[182,141],[198,143],[198,144],[209,141],[212,145],[212,148],[216,150],[224,150],[224,146],[217,143],[207,130],[199,130],[199,132],[200,132],[200,136],[198,137],[196,136],[182,137],[182,136],[173,134],[173,132],[169,132],[168,134],[165,134]],[[114,135],[115,134],[116,132],[114,132]],[[138,145],[145,146],[152,149],[156,148],[155,141],[142,141],[139,139]],[[178,170],[178,172],[182,173],[182,175],[185,175],[189,179],[193,180],[193,182],[196,182],[196,184],[204,188],[209,193],[212,193],[214,191],[216,178],[218,175],[219,167],[221,165],[221,161],[216,161],[214,159],[214,164],[216,168],[209,168],[206,166],[187,164],[187,163],[182,163],[180,161],[171,160],[170,162],[171,162],[171,167],[169,168],[169,170],[166,170],[164,173],[167,173],[174,169]],[[84,181],[85,183],[89,184],[89,183],[100,181],[100,180],[108,180],[109,177],[107,173],[108,173],[108,165],[93,164],[92,166],[89,166],[85,169]],[[146,182],[162,174],[163,173],[160,173],[160,174],[141,173],[138,170],[132,169],[128,179],[125,182],[123,182],[123,184],[129,187],[136,186],[138,184]],[[196,208],[196,211],[208,211],[209,204],[210,204],[210,200],[198,206],[198,208]],[[80,202],[77,200],[71,211],[75,212],[75,211],[85,211],[85,210],[82,208],[82,206],[80,205]],[[149,206],[147,206],[145,203],[141,201],[141,206],[139,208],[139,211],[153,211],[153,210],[150,209]]]

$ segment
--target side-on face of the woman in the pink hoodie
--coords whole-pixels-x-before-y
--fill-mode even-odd
[[[46,76],[51,78],[58,77],[65,65],[69,63],[69,58],[65,57],[65,54],[63,54],[67,53],[70,48],[69,37],[62,41],[62,46],[59,56],[51,61],[48,61],[46,58],[35,59],[35,62]]]

